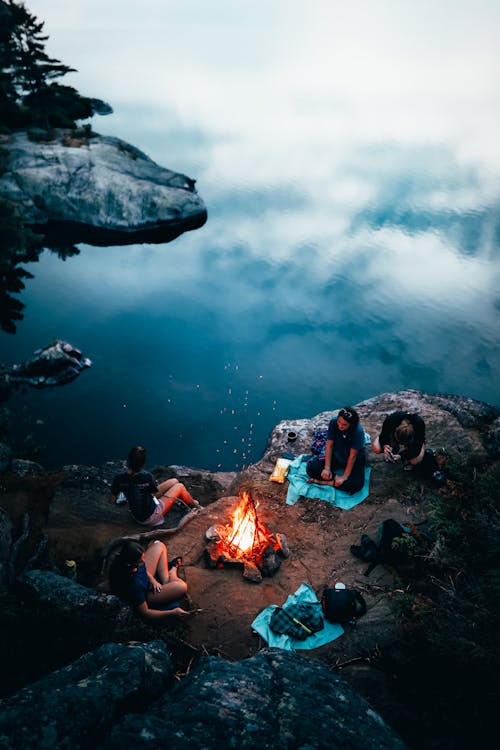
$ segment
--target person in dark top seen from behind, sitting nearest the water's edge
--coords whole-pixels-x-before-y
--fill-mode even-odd
[[[176,500],[188,508],[201,509],[201,505],[189,494],[178,479],[166,479],[158,484],[146,465],[146,449],[140,445],[130,449],[127,459],[127,471],[116,474],[111,484],[111,503],[115,504],[120,493],[123,493],[129,504],[130,512],[143,526],[160,526],[164,516]]]

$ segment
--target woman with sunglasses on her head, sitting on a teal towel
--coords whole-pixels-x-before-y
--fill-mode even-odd
[[[328,425],[324,459],[315,456],[307,462],[308,481],[354,494],[363,487],[365,463],[365,431],[359,414],[344,406]],[[338,469],[342,474],[335,474]]]

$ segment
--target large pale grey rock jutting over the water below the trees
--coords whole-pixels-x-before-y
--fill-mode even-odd
[[[119,138],[56,131],[35,142],[18,132],[3,145],[0,197],[49,237],[54,229],[95,245],[166,242],[206,221],[194,180]]]

